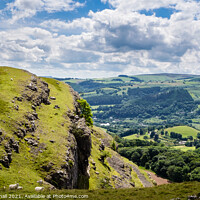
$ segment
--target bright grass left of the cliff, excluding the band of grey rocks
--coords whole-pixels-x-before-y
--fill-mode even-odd
[[[25,116],[33,111],[30,101],[17,101],[15,98],[22,95],[31,77],[32,74],[26,71],[0,67],[0,129],[7,139],[3,140],[0,145],[1,156],[5,155],[4,145],[9,138],[20,141],[15,134],[19,128],[16,124],[24,126],[23,124],[27,121]],[[50,96],[55,96],[56,100],[52,101],[51,105],[41,104],[37,108],[39,120],[36,126],[38,128],[34,135],[27,134],[25,137],[39,138],[38,143],[41,144],[42,153],[37,152],[39,147],[33,149],[24,140],[20,142],[20,153],[12,153],[10,168],[5,168],[0,164],[2,168],[0,186],[19,182],[25,188],[33,189],[37,185],[36,181],[43,179],[47,173],[42,170],[42,166],[52,162],[56,168],[64,162],[69,128],[69,120],[65,115],[68,109],[74,109],[73,98],[66,84],[57,85],[57,81],[53,79],[45,79],[45,81],[49,84]],[[54,109],[56,104],[60,106],[60,109]],[[18,110],[14,109],[16,106],[19,107]],[[55,142],[51,143],[50,140]]]

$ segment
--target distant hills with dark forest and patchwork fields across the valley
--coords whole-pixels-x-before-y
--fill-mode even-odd
[[[192,121],[200,114],[199,80],[200,75],[161,73],[62,81],[90,103],[97,125],[109,122],[120,132],[118,120],[124,128],[188,123],[200,128]]]

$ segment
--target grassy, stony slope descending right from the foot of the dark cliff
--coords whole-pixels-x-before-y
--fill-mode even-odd
[[[113,151],[111,146],[114,141],[110,135],[108,135],[104,130],[94,127],[92,142],[92,152],[91,157],[89,158],[91,175],[90,189],[132,187],[129,184],[130,182],[134,183],[137,188],[145,187],[133,166],[146,177],[148,177],[147,172],[140,170],[134,163],[119,156],[117,152]],[[104,151],[99,150],[99,146],[101,146],[102,142],[105,144]],[[107,152],[108,156],[105,162],[102,163],[99,158],[104,152]],[[115,159],[114,163],[110,163],[109,160],[112,160],[113,158]],[[118,181],[120,179],[121,181]],[[148,178],[147,181],[150,183],[152,182],[152,180]]]

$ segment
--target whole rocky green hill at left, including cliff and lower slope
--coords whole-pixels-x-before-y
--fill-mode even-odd
[[[63,82],[0,67],[0,188],[34,191],[40,179],[45,188],[147,186],[111,149],[112,137],[86,125],[79,98]]]

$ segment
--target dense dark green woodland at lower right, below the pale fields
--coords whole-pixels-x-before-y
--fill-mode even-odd
[[[122,156],[171,181],[200,181],[200,148],[183,152],[162,146],[119,146],[118,151]]]

